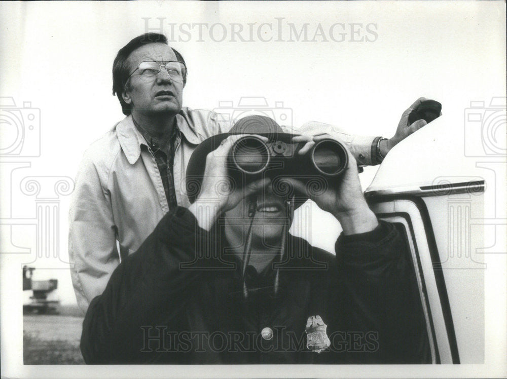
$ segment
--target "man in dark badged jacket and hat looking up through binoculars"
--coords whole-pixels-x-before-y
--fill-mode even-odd
[[[237,124],[218,147],[194,151],[189,170],[192,161],[205,167],[193,204],[166,214],[92,300],[81,338],[85,361],[427,362],[406,243],[369,209],[350,151],[345,147],[340,180],[316,193],[283,175],[224,186],[231,148],[244,136],[234,133],[256,133],[265,142],[282,133],[265,117],[244,120],[238,124],[252,127]],[[304,156],[324,138],[336,139],[299,135],[292,142],[304,145],[298,153]],[[336,256],[288,234],[294,196],[280,196],[278,179],[341,223]],[[294,264],[283,267],[288,256]],[[353,343],[351,333],[358,336]]]

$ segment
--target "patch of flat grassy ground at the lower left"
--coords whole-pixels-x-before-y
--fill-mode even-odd
[[[83,317],[76,315],[24,315],[24,364],[84,364],[82,323]]]

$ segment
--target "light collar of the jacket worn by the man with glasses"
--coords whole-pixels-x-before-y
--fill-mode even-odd
[[[197,145],[201,142],[193,126],[188,123],[181,112],[176,115],[176,127],[190,144]],[[133,165],[141,155],[141,145],[147,144],[135,127],[132,115],[127,116],[116,125],[116,132],[128,162]]]

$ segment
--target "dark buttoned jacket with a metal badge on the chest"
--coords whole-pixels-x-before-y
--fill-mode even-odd
[[[240,264],[218,230],[200,229],[186,208],[166,214],[91,302],[81,336],[85,361],[428,361],[419,291],[394,225],[381,221],[375,231],[340,236],[336,256],[288,235],[277,294],[271,265],[262,273],[248,267],[247,301]],[[307,345],[310,316],[327,325],[331,346],[321,353],[312,351],[313,339]]]

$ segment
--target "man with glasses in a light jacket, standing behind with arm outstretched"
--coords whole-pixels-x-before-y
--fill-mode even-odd
[[[218,113],[183,107],[186,82],[185,60],[162,34],[134,38],[115,58],[113,94],[126,118],[86,151],[69,212],[71,276],[83,311],[166,213],[190,206],[184,183],[192,151],[230,127]],[[407,127],[407,118],[404,113],[389,140],[341,137],[358,164],[378,164],[395,143],[424,125]],[[329,127],[308,124],[304,133]]]

